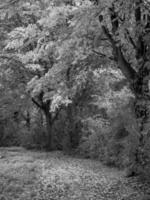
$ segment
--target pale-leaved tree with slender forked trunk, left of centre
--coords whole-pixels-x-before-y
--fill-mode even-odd
[[[20,1],[17,3],[20,5]],[[10,58],[26,72],[27,90],[32,102],[46,118],[49,149],[54,148],[52,126],[62,107],[71,102],[66,85],[67,67],[58,61],[56,46],[69,34],[67,20],[72,8],[65,7],[66,2],[63,6],[57,2],[58,5],[53,7],[54,3],[23,3],[17,9],[21,24],[15,24],[8,31],[5,54],[1,55],[3,59]],[[16,5],[13,8],[15,10]]]

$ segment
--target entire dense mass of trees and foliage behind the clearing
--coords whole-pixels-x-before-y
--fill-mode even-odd
[[[0,1],[0,145],[149,165],[147,0]]]

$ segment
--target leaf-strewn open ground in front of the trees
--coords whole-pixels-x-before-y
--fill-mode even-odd
[[[0,148],[0,200],[140,200],[146,186],[124,172],[62,152]]]

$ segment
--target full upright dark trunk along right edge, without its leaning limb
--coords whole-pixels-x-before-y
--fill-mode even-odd
[[[142,0],[136,2],[135,19],[137,26],[141,23],[142,13],[141,7]],[[149,17],[149,16],[148,16]],[[134,79],[133,91],[135,93],[135,104],[134,111],[139,124],[139,144],[135,153],[135,171],[144,170],[144,167],[149,165],[148,152],[145,151],[144,147],[149,137],[149,119],[150,119],[150,95],[149,95],[149,44],[144,41],[145,34],[149,34],[146,29],[149,27],[149,21],[145,24],[145,33],[141,33],[138,37],[136,44],[136,59],[139,61],[137,67],[138,74]],[[141,64],[142,61],[142,64]],[[139,171],[139,172],[140,172]]]

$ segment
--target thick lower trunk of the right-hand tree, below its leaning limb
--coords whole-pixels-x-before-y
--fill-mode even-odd
[[[144,70],[144,68],[143,68]],[[141,72],[143,71],[141,70]],[[134,112],[139,125],[139,143],[135,152],[135,162],[133,163],[133,171],[138,174],[142,172],[149,163],[148,152],[145,151],[145,145],[149,137],[148,124],[150,123],[150,99],[148,96],[149,86],[147,74],[139,72],[139,76],[134,83],[135,102]],[[147,79],[147,80],[145,80]]]

